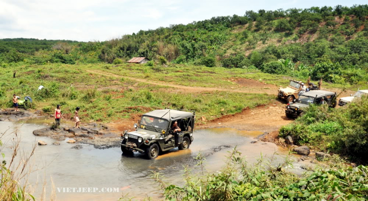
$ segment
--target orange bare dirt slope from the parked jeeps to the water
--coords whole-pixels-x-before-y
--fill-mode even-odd
[[[234,115],[222,116],[208,122],[198,122],[197,128],[229,127],[269,133],[279,130],[292,121],[293,119],[285,116],[285,104],[274,101],[271,104],[259,106],[252,110],[245,109],[243,112]]]

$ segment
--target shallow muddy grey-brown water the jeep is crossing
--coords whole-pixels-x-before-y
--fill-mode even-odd
[[[94,149],[91,145],[80,144],[82,149],[71,149],[77,144],[59,141],[60,145],[52,143],[56,140],[48,137],[34,136],[32,131],[44,127],[42,119],[36,119],[14,124],[12,122],[0,122],[0,133],[10,128],[7,134],[2,136],[7,160],[9,160],[12,138],[15,134],[9,132],[17,130],[21,136],[20,145],[25,153],[29,152],[32,145],[38,140],[48,143],[46,146],[37,146],[35,155],[32,156],[32,170],[28,182],[34,188],[34,193],[41,198],[43,181],[46,181],[46,200],[50,198],[51,177],[55,186],[57,200],[117,200],[122,194],[128,197],[143,199],[147,196],[154,200],[161,198],[158,185],[150,179],[152,171],[159,171],[165,175],[165,181],[174,184],[183,183],[183,165],[189,165],[195,169],[196,156],[200,151],[206,156],[206,169],[217,171],[224,165],[228,151],[237,146],[249,163],[257,161],[261,153],[267,156],[275,151],[287,154],[287,151],[279,149],[273,143],[257,142],[253,138],[260,132],[238,131],[236,129],[203,129],[196,130],[194,142],[188,150],[163,153],[155,160],[145,159],[144,155],[135,153],[133,156],[122,156],[120,147],[105,150]],[[282,158],[280,157],[281,161]],[[67,193],[59,188],[117,188],[115,193]]]

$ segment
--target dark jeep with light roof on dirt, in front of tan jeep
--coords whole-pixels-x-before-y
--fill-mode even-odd
[[[304,114],[303,109],[308,108],[310,104],[327,104],[335,108],[337,104],[336,93],[324,90],[313,90],[302,93],[295,103],[288,103],[285,114],[288,118],[302,116]]]

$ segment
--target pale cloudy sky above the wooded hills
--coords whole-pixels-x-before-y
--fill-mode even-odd
[[[0,0],[0,39],[106,41],[245,11],[352,6],[367,0]]]

